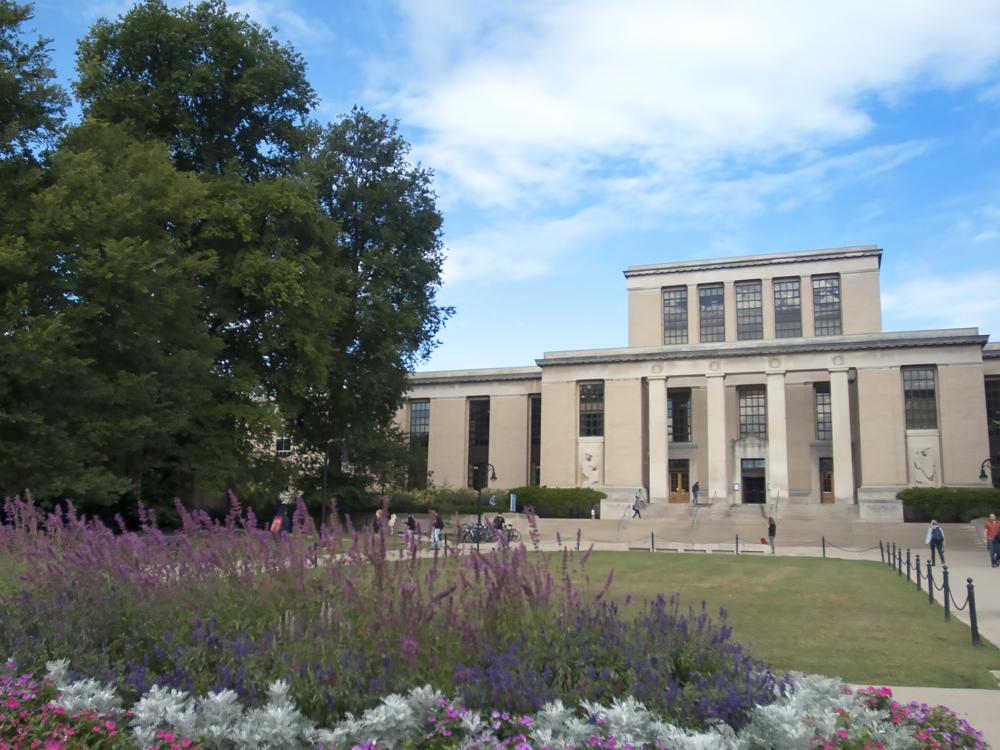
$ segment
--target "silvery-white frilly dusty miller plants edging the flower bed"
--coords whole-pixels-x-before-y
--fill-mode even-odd
[[[50,662],[48,677],[60,691],[59,705],[67,710],[91,709],[123,713],[114,689],[96,680],[70,681],[69,662]],[[552,750],[588,746],[595,736],[614,738],[617,745],[669,747],[671,750],[809,750],[816,737],[836,730],[838,711],[850,725],[886,750],[909,750],[919,743],[913,734],[894,725],[887,712],[865,705],[843,682],[819,675],[794,674],[793,687],[779,692],[769,705],[755,707],[740,731],[717,724],[702,731],[686,730],[661,721],[632,697],[610,705],[584,701],[579,709],[556,700],[546,704],[525,727],[534,747]],[[288,684],[271,684],[267,703],[243,708],[230,690],[193,698],[180,690],[154,687],[132,708],[132,734],[148,747],[156,731],[169,729],[190,737],[207,750],[307,750],[349,748],[369,743],[393,750],[419,747],[428,717],[438,713],[444,696],[429,687],[406,695],[388,695],[360,716],[348,714],[330,729],[319,729],[302,715],[289,696]],[[476,711],[463,713],[456,731],[456,747],[496,748],[502,742],[490,721]]]

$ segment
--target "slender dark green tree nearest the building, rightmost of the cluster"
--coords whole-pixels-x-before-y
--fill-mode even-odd
[[[409,160],[409,148],[395,123],[355,109],[324,130],[307,165],[338,227],[347,308],[329,331],[326,388],[289,410],[304,442],[332,454],[335,475],[349,467],[371,480],[388,462],[405,471],[393,417],[407,374],[451,313],[436,299],[444,256],[432,173]]]

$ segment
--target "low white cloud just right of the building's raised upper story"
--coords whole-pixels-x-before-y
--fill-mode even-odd
[[[882,291],[886,330],[977,327],[1000,335],[1000,273],[911,279]]]

